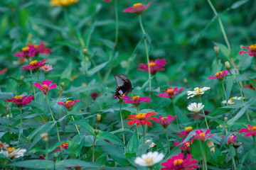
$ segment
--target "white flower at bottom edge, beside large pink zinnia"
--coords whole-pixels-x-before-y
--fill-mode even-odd
[[[135,159],[135,164],[138,164],[139,166],[153,166],[154,164],[157,164],[163,160],[164,154],[157,152],[148,152],[146,154],[142,154],[142,157],[137,157]]]

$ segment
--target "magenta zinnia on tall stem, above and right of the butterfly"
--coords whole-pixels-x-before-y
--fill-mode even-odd
[[[152,60],[149,61],[149,67],[150,67],[150,72],[151,74],[156,74],[156,72],[159,71],[164,71],[164,67],[167,64],[166,59],[156,59],[155,62],[153,62]],[[148,64],[139,64],[138,66],[138,70],[141,70],[143,72],[149,72],[149,68],[148,68]]]

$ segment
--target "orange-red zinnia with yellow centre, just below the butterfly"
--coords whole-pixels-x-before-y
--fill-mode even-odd
[[[149,112],[149,113],[138,113],[134,115],[129,115],[127,119],[130,119],[130,120],[127,122],[127,124],[133,125],[134,123],[136,123],[136,125],[139,126],[142,123],[142,125],[148,124],[149,126],[151,126],[152,123],[149,122],[149,120],[153,120],[153,121],[156,120],[156,118],[150,118],[152,115],[156,115],[156,113]]]

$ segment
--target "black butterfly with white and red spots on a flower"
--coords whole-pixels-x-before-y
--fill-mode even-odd
[[[119,76],[114,74],[114,79],[117,82],[117,89],[114,96],[120,98],[122,95],[127,95],[129,92],[132,92],[132,83],[124,74],[119,74]]]

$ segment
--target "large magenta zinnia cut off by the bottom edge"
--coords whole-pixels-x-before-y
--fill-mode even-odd
[[[170,159],[167,159],[166,162],[161,163],[161,170],[196,170],[198,168],[197,160],[191,159],[192,155],[188,154],[186,158],[184,158],[184,154],[179,153],[178,155],[174,155]]]

